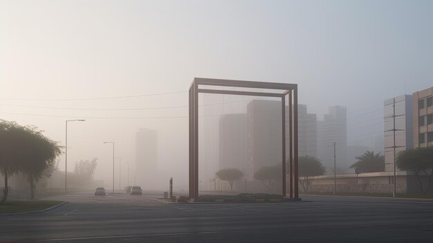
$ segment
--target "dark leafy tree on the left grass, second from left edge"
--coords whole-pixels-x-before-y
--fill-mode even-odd
[[[25,166],[20,168],[27,175],[30,183],[30,197],[35,198],[35,182],[42,177],[50,177],[56,166],[57,157],[62,154],[57,142],[47,138],[37,127],[24,127],[24,139],[21,141],[20,161]]]

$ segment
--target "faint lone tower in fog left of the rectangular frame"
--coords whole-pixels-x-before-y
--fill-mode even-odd
[[[158,131],[140,129],[136,132],[136,181],[142,183],[146,175],[158,168]]]

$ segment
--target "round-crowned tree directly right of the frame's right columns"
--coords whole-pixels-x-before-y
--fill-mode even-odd
[[[308,193],[308,177],[317,177],[324,175],[326,172],[320,159],[313,156],[300,156],[298,158],[298,174],[300,183],[304,192]]]

